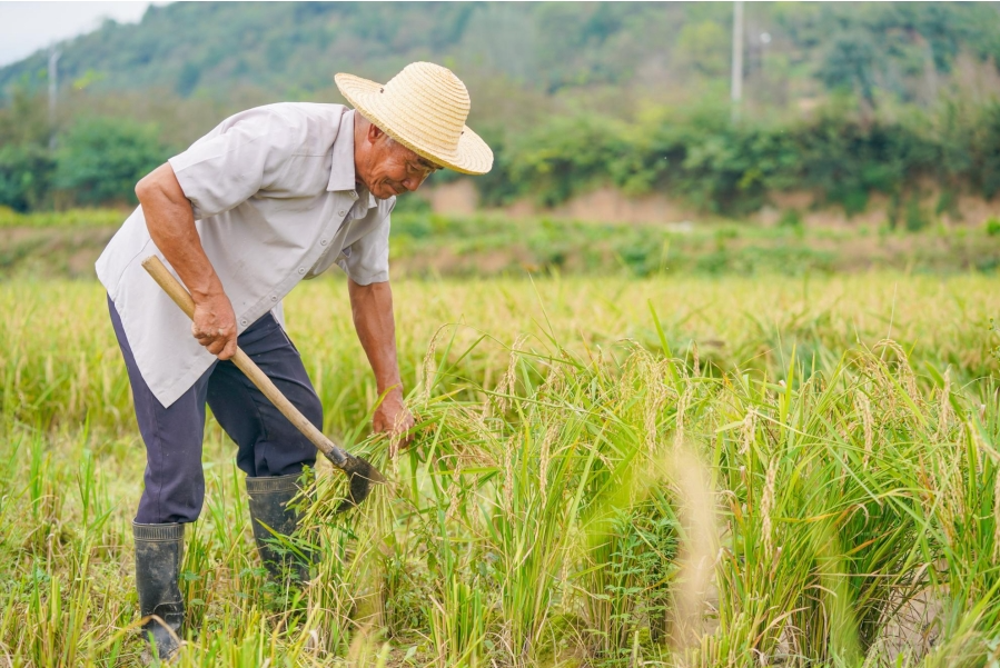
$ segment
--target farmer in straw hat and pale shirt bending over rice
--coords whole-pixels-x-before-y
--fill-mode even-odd
[[[281,300],[333,263],[347,273],[354,326],[379,396],[376,431],[414,423],[396,362],[389,289],[389,213],[397,195],[444,167],[489,171],[489,147],[465,127],[469,99],[449,70],[407,66],[388,83],[337,74],[354,106],[281,103],[226,119],[136,186],[140,206],[97,261],[128,368],[146,445],[145,489],[132,525],[143,636],[177,649],[185,525],[205,496],[205,405],[236,441],[247,475],[254,537],[273,578],[301,557],[265,540],[297,525],[285,505],[316,449],[229,358],[237,343],[317,427],[323,407],[285,332]],[[143,271],[157,255],[195,301],[194,322]],[[330,317],[337,315],[330,313]]]

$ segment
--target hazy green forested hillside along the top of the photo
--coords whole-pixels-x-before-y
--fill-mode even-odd
[[[747,3],[746,70],[794,82],[780,97],[845,88],[932,94],[964,50],[1000,60],[994,3]],[[303,97],[333,73],[386,78],[429,59],[472,87],[497,76],[543,93],[724,80],[732,3],[176,2],[139,24],[107,21],[62,44],[62,81],[96,91],[157,89]],[[44,78],[46,54],[0,69],[0,91]],[[773,81],[762,81],[773,96]],[[754,89],[751,89],[752,96]]]

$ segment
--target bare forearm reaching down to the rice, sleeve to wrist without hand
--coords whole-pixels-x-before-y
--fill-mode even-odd
[[[396,359],[396,321],[393,318],[393,290],[388,282],[362,286],[348,279],[350,311],[358,340],[372,371],[378,393],[398,389],[402,393],[403,382],[399,378],[399,365]]]

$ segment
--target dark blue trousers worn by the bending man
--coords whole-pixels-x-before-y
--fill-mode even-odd
[[[236,465],[250,477],[300,473],[316,447],[231,361],[216,361],[169,408],[150,391],[132,357],[121,319],[108,299],[111,325],[128,368],[139,433],[146,443],[146,488],[136,522],[192,522],[205,500],[201,440],[205,405],[236,441]],[[239,347],[310,422],[323,428],[323,406],[291,340],[267,313],[239,335]]]

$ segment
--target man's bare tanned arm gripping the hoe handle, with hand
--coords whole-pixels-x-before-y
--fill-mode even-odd
[[[219,359],[236,352],[236,313],[222,282],[208,261],[195,229],[195,212],[170,163],[161,164],[136,186],[154,243],[177,271],[195,300],[191,333]]]

